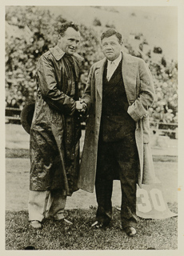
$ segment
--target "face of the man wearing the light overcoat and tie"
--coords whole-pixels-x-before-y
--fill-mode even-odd
[[[112,35],[109,38],[102,39],[102,52],[110,61],[118,58],[121,53],[122,42],[118,42],[118,38],[115,35]]]

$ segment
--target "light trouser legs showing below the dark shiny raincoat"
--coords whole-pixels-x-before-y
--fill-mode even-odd
[[[44,218],[60,220],[64,218],[66,196],[60,190],[32,191],[30,190],[28,211],[29,220],[42,222]]]

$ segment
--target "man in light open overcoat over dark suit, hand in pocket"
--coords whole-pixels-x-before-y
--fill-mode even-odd
[[[98,210],[92,226],[107,226],[112,218],[113,180],[122,188],[121,222],[129,236],[137,233],[136,183],[154,182],[150,154],[148,108],[154,102],[154,83],[141,58],[122,52],[122,35],[102,34],[106,58],[90,69],[86,91],[89,118],[78,187],[96,190]]]

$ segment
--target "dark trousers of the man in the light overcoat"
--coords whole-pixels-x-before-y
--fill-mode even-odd
[[[134,133],[117,142],[99,138],[95,191],[98,202],[96,218],[108,224],[112,219],[113,180],[119,179],[122,189],[122,227],[136,226],[136,183],[138,181],[138,150]]]

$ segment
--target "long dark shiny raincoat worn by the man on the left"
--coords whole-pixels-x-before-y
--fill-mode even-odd
[[[38,61],[38,94],[30,128],[30,190],[59,189],[71,195],[78,189],[81,126],[75,101],[82,58],[72,57],[72,77],[64,54],[55,46]]]

